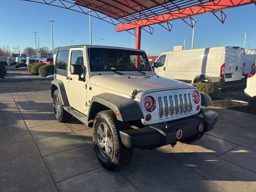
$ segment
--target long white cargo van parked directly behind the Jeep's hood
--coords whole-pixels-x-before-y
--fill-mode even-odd
[[[232,46],[164,52],[154,62],[158,76],[218,88],[245,86],[244,65],[244,49]]]

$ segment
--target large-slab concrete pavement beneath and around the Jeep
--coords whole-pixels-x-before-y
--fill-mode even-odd
[[[206,108],[205,110],[209,110]],[[211,108],[214,130],[191,145],[134,150],[120,172],[102,168],[92,128],[59,123],[50,91],[0,94],[1,191],[256,191],[256,116]]]

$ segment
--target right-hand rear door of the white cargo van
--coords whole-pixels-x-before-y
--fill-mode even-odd
[[[233,80],[241,80],[244,67],[244,49],[235,50],[235,70]]]

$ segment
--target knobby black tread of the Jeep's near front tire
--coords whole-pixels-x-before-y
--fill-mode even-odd
[[[112,167],[109,167],[107,169],[118,171],[121,168],[127,166],[132,160],[133,148],[128,148],[124,146],[122,144],[122,140],[119,134],[119,131],[130,129],[130,124],[128,122],[122,122],[117,120],[116,115],[112,110],[101,111],[97,114],[97,116],[99,115],[103,115],[108,118],[108,121],[112,126],[112,131],[113,131],[115,140],[118,141],[116,143],[116,150],[118,150],[117,154],[119,154],[119,156],[114,158]],[[95,135],[95,132],[93,132],[93,134]]]

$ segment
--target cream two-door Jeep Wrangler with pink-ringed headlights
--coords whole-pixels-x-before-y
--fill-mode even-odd
[[[67,46],[57,50],[51,94],[59,122],[72,116],[93,128],[96,155],[107,170],[126,166],[133,148],[190,143],[213,129],[208,94],[154,75],[142,50]]]

